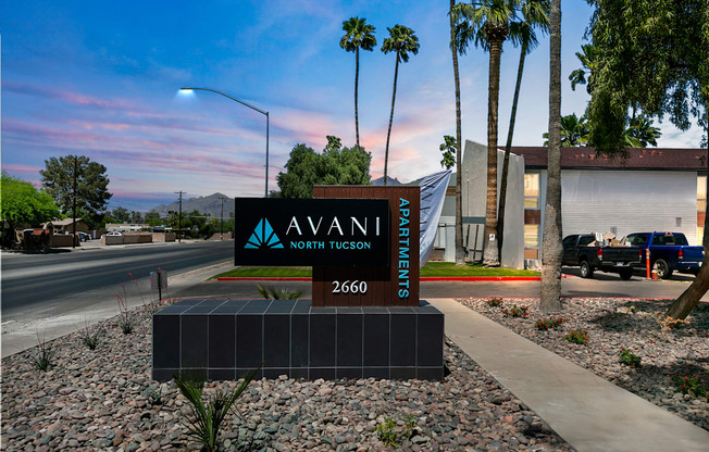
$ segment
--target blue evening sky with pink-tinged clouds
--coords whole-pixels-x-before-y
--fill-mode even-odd
[[[1,167],[39,186],[45,160],[86,155],[107,167],[109,209],[147,211],[221,192],[262,197],[269,112],[269,190],[298,143],[321,151],[327,135],[354,136],[354,54],[339,47],[343,22],[365,17],[377,47],[360,52],[360,143],[372,178],[384,173],[394,54],[380,49],[396,24],[418,54],[399,66],[389,176],[440,171],[439,145],[456,133],[447,1],[52,1],[0,0]],[[580,67],[592,9],[562,3],[562,114],[581,115]],[[519,49],[503,47],[499,141],[507,137]],[[463,140],[487,141],[488,55],[459,58]],[[542,146],[548,127],[549,38],[526,60],[513,146]],[[660,124],[664,148],[699,146],[701,133]]]

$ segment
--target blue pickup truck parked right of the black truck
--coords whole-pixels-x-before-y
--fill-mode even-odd
[[[639,267],[645,268],[645,252],[650,250],[650,267],[657,264],[658,278],[668,279],[673,272],[699,273],[704,247],[691,247],[682,233],[634,233],[627,241],[643,251]]]

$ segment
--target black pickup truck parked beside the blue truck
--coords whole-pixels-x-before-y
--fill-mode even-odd
[[[582,278],[593,278],[594,271],[618,273],[622,279],[633,276],[639,266],[643,250],[637,247],[598,247],[593,234],[567,236],[563,241],[561,265],[581,267]]]

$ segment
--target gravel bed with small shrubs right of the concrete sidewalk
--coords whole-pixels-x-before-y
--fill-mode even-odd
[[[707,398],[677,392],[671,377],[694,374],[709,392],[709,305],[697,306],[687,317],[688,326],[663,331],[656,313],[664,313],[670,301],[568,299],[559,313],[567,322],[557,329],[539,330],[536,321],[551,316],[537,310],[538,300],[505,299],[499,306],[490,306],[489,299],[459,301],[545,349],[709,430]],[[511,317],[501,313],[515,304],[528,307],[528,316]],[[585,346],[564,338],[573,329],[588,332]],[[619,363],[622,348],[640,356],[639,367]]]

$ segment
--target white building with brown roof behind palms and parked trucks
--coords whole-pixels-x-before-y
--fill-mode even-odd
[[[486,147],[482,145],[465,142],[462,162],[463,226],[465,217],[469,217],[468,222],[473,222],[477,216],[465,198],[486,191]],[[523,218],[522,253],[525,265],[535,266],[535,261],[540,258],[548,151],[546,147],[513,147],[511,152],[515,155],[514,165],[520,165],[518,159],[521,160],[523,191],[508,188],[507,203],[510,210],[507,211],[506,218]],[[500,155],[501,151],[498,153],[498,174],[501,174]],[[520,183],[518,173],[510,174],[512,187]],[[441,227],[446,230],[436,242],[436,246],[446,249],[446,261],[452,261],[451,255],[455,256],[451,254],[453,241],[448,237],[455,236],[455,184],[453,175],[452,196],[447,197],[441,215]],[[676,231],[683,233],[689,243],[701,244],[707,211],[706,187],[706,149],[631,149],[627,159],[611,159],[599,156],[594,148],[563,148],[562,234],[612,231],[618,237],[623,237],[648,230]],[[519,199],[520,196],[522,199]],[[518,223],[518,219],[512,219],[511,227],[515,228]],[[465,237],[465,227],[463,229]],[[518,231],[513,234],[517,235]],[[507,240],[506,227],[506,243]],[[448,241],[451,243],[448,244]],[[477,250],[480,243],[470,240],[467,243],[469,258],[481,259],[481,250]],[[512,262],[503,261],[502,265],[521,267],[517,259]]]

